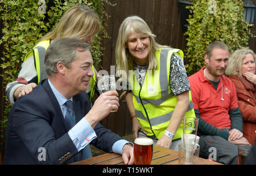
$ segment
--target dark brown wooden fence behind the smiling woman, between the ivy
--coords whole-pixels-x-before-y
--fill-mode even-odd
[[[152,32],[156,35],[156,41],[162,45],[179,48],[184,51],[187,41],[181,31],[180,11],[177,0],[114,0],[116,6],[106,5],[106,12],[111,15],[106,19],[106,30],[111,38],[104,40],[104,57],[102,68],[110,72],[110,65],[115,65],[114,48],[118,36],[118,29],[123,19],[127,16],[138,15],[146,21]],[[256,0],[253,0],[256,5]],[[256,14],[255,14],[256,15]],[[256,28],[251,30],[255,33]],[[256,51],[256,39],[250,38],[249,48]],[[184,58],[187,63],[187,59]],[[121,92],[120,92],[121,93]],[[130,113],[125,102],[120,102],[116,113],[110,113],[102,120],[104,126],[117,132],[119,135],[131,134]]]

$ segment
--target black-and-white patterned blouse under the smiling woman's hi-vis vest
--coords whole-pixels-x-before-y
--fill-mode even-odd
[[[134,74],[141,84],[144,82],[147,68],[148,66],[140,66],[134,62]],[[179,95],[180,93],[191,90],[183,59],[177,54],[173,54],[171,58],[169,85],[174,95]]]

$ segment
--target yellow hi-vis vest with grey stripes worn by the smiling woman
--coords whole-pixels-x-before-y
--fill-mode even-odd
[[[133,104],[137,118],[142,128],[147,131],[147,135],[151,136],[155,134],[158,139],[168,127],[171,115],[177,104],[176,96],[171,92],[169,86],[171,56],[174,53],[179,54],[183,58],[183,51],[179,49],[162,49],[162,51],[156,51],[158,65],[154,71],[146,72],[142,87],[139,85],[133,72],[133,74],[129,75],[129,84],[133,92]],[[189,107],[185,113],[185,117],[195,117],[190,91]],[[150,123],[148,122],[148,118],[150,119]],[[174,139],[180,138],[182,133],[183,122],[181,122],[177,129]]]

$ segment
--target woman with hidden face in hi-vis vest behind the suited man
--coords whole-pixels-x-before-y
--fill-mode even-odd
[[[27,53],[18,79],[7,85],[6,95],[10,103],[14,104],[18,97],[30,93],[41,80],[46,79],[44,54],[53,40],[62,37],[76,37],[91,44],[93,37],[100,31],[100,26],[100,18],[89,7],[77,5],[69,8],[61,17],[56,28],[41,38],[38,44]],[[97,81],[97,71],[94,67],[93,72],[94,75],[90,79],[90,85],[86,91],[91,100]]]

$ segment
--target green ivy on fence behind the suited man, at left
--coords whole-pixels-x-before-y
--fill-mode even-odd
[[[3,78],[3,85],[6,86],[7,83],[16,80],[26,53],[41,37],[52,31],[69,7],[78,4],[87,5],[97,12],[102,24],[105,24],[104,19],[107,15],[104,10],[105,3],[114,6],[108,0],[0,0],[0,18],[3,22],[3,36],[0,44],[4,47],[1,58],[3,74],[0,76]],[[100,33],[94,38],[92,44],[92,56],[96,68],[103,55],[102,39],[105,37],[109,36],[105,25],[102,25]],[[9,110],[10,104],[6,99],[5,117],[1,122],[2,130],[5,127]],[[1,134],[3,137],[3,131]]]

